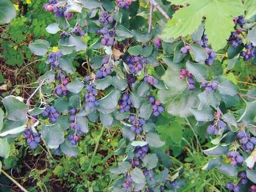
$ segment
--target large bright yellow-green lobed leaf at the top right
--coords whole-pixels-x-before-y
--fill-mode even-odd
[[[192,34],[205,16],[205,34],[212,48],[224,48],[231,31],[234,31],[233,16],[243,15],[239,0],[189,0],[189,6],[173,14],[163,31],[163,38],[178,38]]]

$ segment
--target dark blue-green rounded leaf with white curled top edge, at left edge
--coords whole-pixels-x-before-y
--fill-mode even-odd
[[[24,121],[27,117],[28,106],[21,97],[9,95],[2,100],[5,105],[7,118],[14,121]]]

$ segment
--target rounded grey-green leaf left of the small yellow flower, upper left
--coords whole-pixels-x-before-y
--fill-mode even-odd
[[[42,39],[37,39],[28,45],[28,48],[31,50],[31,52],[39,56],[47,54],[49,47],[49,42]]]

